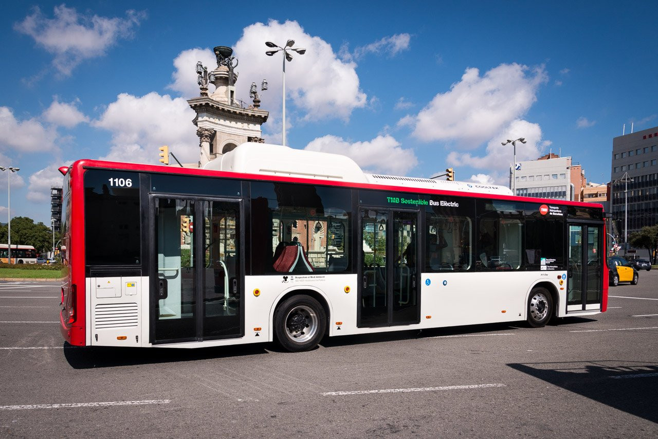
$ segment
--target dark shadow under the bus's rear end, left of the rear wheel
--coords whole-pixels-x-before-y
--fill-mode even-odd
[[[131,365],[176,363],[267,353],[267,344],[218,346],[215,348],[111,348],[107,346],[71,346],[64,344],[64,358],[73,369],[120,367]]]

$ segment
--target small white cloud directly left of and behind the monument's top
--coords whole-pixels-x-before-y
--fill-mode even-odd
[[[199,96],[199,84],[197,84],[196,65],[197,61],[208,68],[209,72],[215,70],[217,61],[213,49],[206,47],[205,49],[184,50],[178,54],[174,59],[174,67],[176,70],[172,73],[174,82],[169,84],[168,88],[180,92],[186,99]],[[249,83],[251,84],[251,83]],[[212,94],[215,86],[210,84],[209,92]]]

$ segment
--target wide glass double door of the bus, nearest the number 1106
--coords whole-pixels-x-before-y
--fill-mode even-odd
[[[244,334],[241,203],[152,197],[153,343]]]

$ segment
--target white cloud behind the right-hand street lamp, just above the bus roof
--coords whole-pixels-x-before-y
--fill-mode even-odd
[[[517,142],[516,160],[526,161],[535,160],[541,155],[541,151],[550,144],[542,140],[542,129],[538,124],[530,123],[526,120],[513,120],[504,130],[492,136],[486,147],[486,154],[474,155],[472,153],[461,153],[451,151],[447,155],[447,163],[455,167],[472,167],[476,169],[485,169],[489,174],[489,182],[496,184],[509,183],[509,168],[514,161],[514,147],[511,143],[503,146],[501,139],[518,139],[525,138],[526,143]],[[480,175],[480,174],[477,174]],[[476,176],[471,176],[473,181],[478,181]]]

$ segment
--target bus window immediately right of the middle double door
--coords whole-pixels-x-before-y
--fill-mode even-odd
[[[426,271],[466,271],[472,265],[472,222],[467,217],[428,215]]]

